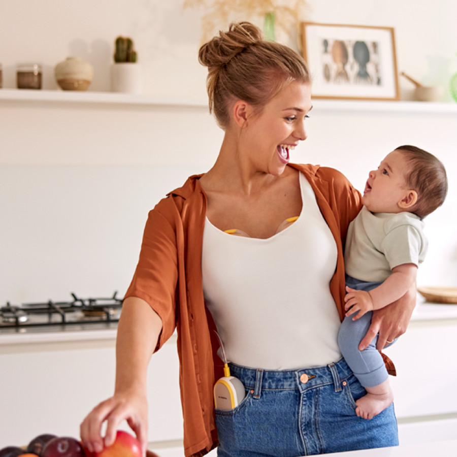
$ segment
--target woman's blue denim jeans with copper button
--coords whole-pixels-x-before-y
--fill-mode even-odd
[[[231,364],[246,387],[233,410],[216,409],[219,457],[297,457],[398,445],[390,405],[371,420],[357,417],[366,394],[346,362],[303,370],[255,370]]]

